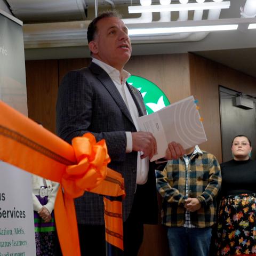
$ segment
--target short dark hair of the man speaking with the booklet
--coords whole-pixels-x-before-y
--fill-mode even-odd
[[[122,19],[122,15],[117,10],[113,10],[113,11],[102,12],[98,15],[98,17],[96,17],[92,20],[92,22],[89,24],[88,29],[87,29],[88,43],[93,41],[94,36],[97,33],[97,23],[98,23],[98,21],[101,20],[101,19],[104,19],[104,18],[111,18],[111,17]]]

